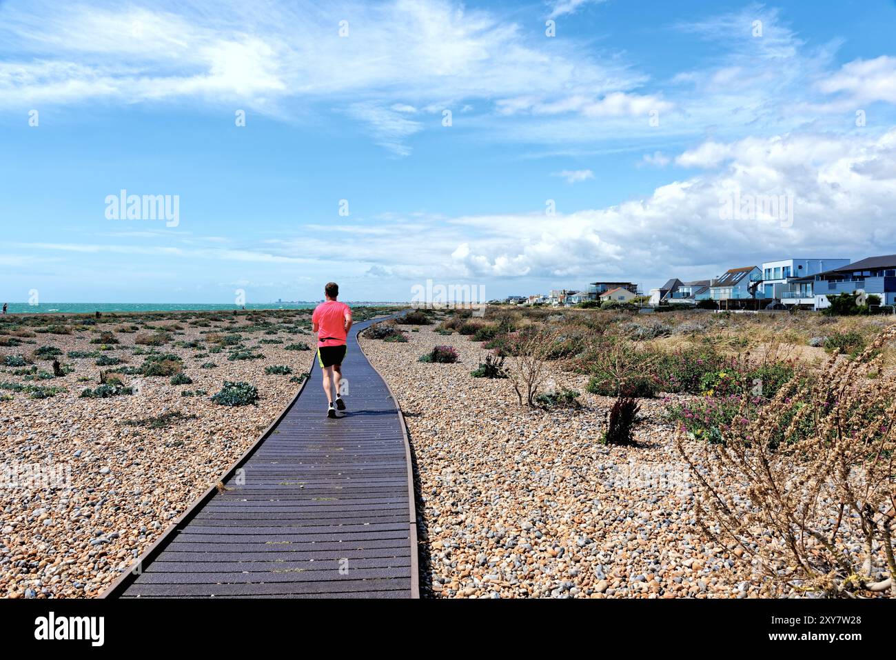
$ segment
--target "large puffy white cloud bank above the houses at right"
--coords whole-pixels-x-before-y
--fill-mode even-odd
[[[676,181],[645,199],[603,209],[457,219],[485,238],[468,241],[452,258],[471,275],[526,274],[556,282],[620,276],[646,282],[679,274],[711,277],[763,259],[861,258],[893,251],[896,129],[862,139],[749,138],[694,152],[724,152],[730,162],[709,176]],[[722,201],[735,192],[793,195],[792,226],[761,215],[720,219]]]

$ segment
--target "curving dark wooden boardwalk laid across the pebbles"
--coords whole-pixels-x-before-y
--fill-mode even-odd
[[[320,369],[261,439],[104,597],[416,598],[407,431],[349,334],[348,410],[326,417]]]

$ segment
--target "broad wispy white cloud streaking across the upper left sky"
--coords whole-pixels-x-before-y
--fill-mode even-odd
[[[239,0],[13,1],[0,5],[0,60],[0,109],[189,101],[289,117],[295,108],[349,107],[401,154],[419,130],[401,116],[418,108],[463,112],[472,100],[524,92],[543,104],[566,90],[607,94],[643,79],[572,46],[532,42],[516,23],[451,0],[270,2],[264,11]]]

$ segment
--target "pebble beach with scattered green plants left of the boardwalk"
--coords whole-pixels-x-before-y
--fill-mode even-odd
[[[99,354],[139,366],[144,357],[135,352],[146,347],[135,345],[135,337],[167,332],[170,342],[155,350],[177,355],[193,381],[172,385],[166,377],[125,376],[125,384],[137,391],[108,398],[84,398],[81,393],[98,385],[100,370],[113,367],[97,366],[95,357],[66,357],[68,352],[97,352],[99,345],[90,343],[98,336],[97,326],[71,322],[71,334],[26,331],[19,345],[0,348],[3,359],[53,346],[72,369],[63,377],[38,381],[64,390],[47,398],[0,391],[0,462],[52,466],[54,476],[65,482],[51,483],[50,488],[30,483],[16,487],[6,474],[0,489],[0,595],[100,595],[194,499],[215,485],[296,395],[301,384],[290,378],[301,378],[311,367],[313,351],[286,350],[290,343],[314,345],[307,323],[310,310],[288,314],[295,316],[259,314],[249,320],[228,314],[207,326],[163,319],[147,322],[151,331],[127,333],[116,329],[130,330],[131,318],[120,325],[103,323],[101,329],[112,331],[118,343]],[[141,323],[136,327],[142,328]],[[247,331],[250,325],[254,329]],[[228,360],[230,347],[209,352],[215,345],[209,337],[216,334],[241,334],[243,349],[261,357]],[[194,346],[186,347],[190,343]],[[49,363],[34,364],[48,369]],[[265,372],[274,365],[289,367],[292,375]],[[3,371],[0,381],[29,382],[16,378],[15,369]],[[211,395],[224,381],[253,384],[258,401],[241,406],[213,403]]]

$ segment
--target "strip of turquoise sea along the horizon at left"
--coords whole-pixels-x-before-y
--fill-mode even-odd
[[[312,309],[323,300],[317,302],[260,302],[246,303],[246,309]],[[358,300],[349,301],[352,307],[387,307],[407,305],[401,302],[385,302]],[[2,302],[0,302],[2,305]],[[240,309],[226,303],[213,302],[42,302],[31,305],[27,302],[11,302],[8,314],[93,314],[94,312],[176,312],[176,311],[219,311],[221,309]]]

